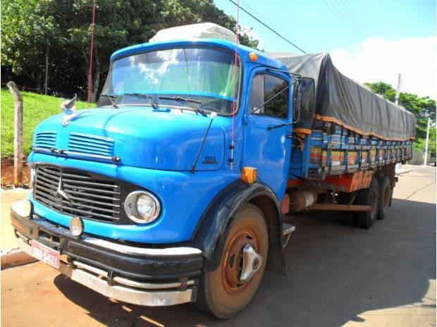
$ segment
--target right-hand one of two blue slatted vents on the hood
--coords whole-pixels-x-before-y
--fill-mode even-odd
[[[113,156],[113,140],[72,132],[68,138],[68,151]]]

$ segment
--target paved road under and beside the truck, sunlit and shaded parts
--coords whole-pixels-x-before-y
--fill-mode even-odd
[[[254,301],[223,323],[191,304],[113,302],[41,263],[1,271],[3,326],[435,326],[436,169],[400,177],[371,230],[333,214],[289,217],[288,277],[267,273]]]

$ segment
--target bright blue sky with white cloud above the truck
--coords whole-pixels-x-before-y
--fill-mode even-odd
[[[234,0],[237,2],[238,0]],[[217,7],[237,17],[229,0]],[[401,92],[437,99],[435,0],[240,0],[241,8],[308,53],[328,52],[357,82],[388,82]],[[301,53],[240,9],[260,49]]]

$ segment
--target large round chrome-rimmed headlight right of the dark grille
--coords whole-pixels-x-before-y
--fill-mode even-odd
[[[152,223],[161,213],[161,204],[149,192],[135,191],[126,197],[125,211],[135,223]]]

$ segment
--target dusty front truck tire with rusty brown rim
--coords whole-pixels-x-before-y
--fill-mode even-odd
[[[262,259],[257,266],[253,261],[252,268],[256,272],[245,283],[240,277],[246,245],[251,245]],[[230,319],[239,314],[258,290],[268,252],[269,233],[264,215],[254,204],[246,204],[229,228],[218,269],[202,273],[195,306],[219,319]]]

